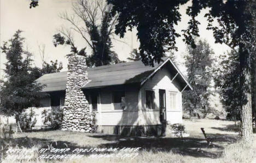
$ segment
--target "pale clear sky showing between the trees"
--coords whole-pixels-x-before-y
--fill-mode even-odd
[[[63,70],[67,70],[67,58],[65,57],[70,53],[70,47],[53,45],[53,35],[58,33],[62,25],[70,27],[69,24],[60,19],[59,15],[65,11],[72,13],[72,2],[75,0],[39,0],[39,6],[36,8],[29,8],[30,0],[0,0],[0,45],[3,45],[3,41],[9,40],[15,31],[20,29],[22,37],[26,38],[25,48],[33,53],[34,66],[41,67],[42,59],[40,57],[38,46],[45,45],[45,60],[50,62],[56,59],[63,64]],[[102,0],[103,1],[103,0]],[[191,2],[183,5],[180,9],[182,14],[182,21],[176,26],[176,30],[181,34],[181,30],[187,28],[189,17],[185,14],[187,7],[191,5]],[[197,20],[201,22],[199,26],[200,38],[206,39],[212,47],[216,57],[223,54],[226,51],[230,51],[229,47],[221,44],[214,44],[214,38],[212,31],[207,31],[207,21],[203,17],[207,9],[203,10]],[[113,50],[117,52],[119,59],[126,61],[129,57],[129,53],[133,48],[139,46],[139,42],[136,38],[136,29],[132,32],[127,32],[125,37],[120,39],[119,36],[115,36],[113,40]],[[183,42],[183,37],[177,38],[176,43],[178,51],[174,52],[177,61],[181,63],[179,69],[185,73],[183,56],[186,52],[186,45]],[[79,35],[74,35],[75,44],[82,48],[86,46],[85,42]],[[89,47],[87,48],[88,52]],[[3,77],[4,63],[6,62],[5,55],[1,52],[0,55],[0,79]]]

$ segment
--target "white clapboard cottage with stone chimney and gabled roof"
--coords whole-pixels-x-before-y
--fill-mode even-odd
[[[192,89],[168,57],[154,67],[135,61],[87,68],[83,56],[73,55],[68,71],[37,81],[50,94],[41,107],[63,106],[63,130],[90,132],[95,111],[98,130],[106,134],[182,123],[182,92]]]

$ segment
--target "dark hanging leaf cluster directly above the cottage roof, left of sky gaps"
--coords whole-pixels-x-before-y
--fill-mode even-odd
[[[160,62],[164,57],[165,47],[168,50],[176,47],[176,38],[180,36],[174,29],[181,21],[178,9],[188,1],[119,1],[107,0],[113,4],[112,16],[118,14],[115,33],[124,37],[126,29],[137,28],[137,38],[140,42],[139,53],[146,65],[154,61]]]

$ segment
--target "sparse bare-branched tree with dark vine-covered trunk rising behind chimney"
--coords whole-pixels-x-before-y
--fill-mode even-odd
[[[110,15],[111,9],[110,5],[100,0],[78,0],[73,4],[73,15],[63,13],[60,16],[61,19],[71,23],[72,28],[62,27],[60,33],[54,35],[54,45],[71,45],[72,53],[86,56],[89,67],[120,62],[117,53],[111,50],[110,37],[113,35],[113,29],[117,23],[116,16]],[[79,24],[79,21],[83,23]],[[86,55],[85,48],[77,50],[72,37],[73,31],[77,32],[90,47],[91,55]]]

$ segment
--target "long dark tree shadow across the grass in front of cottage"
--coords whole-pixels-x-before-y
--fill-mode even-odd
[[[47,135],[47,132],[44,133]],[[231,143],[236,140],[234,135],[210,135],[216,137],[216,146],[209,148],[205,139],[203,138],[171,138],[171,137],[125,137],[118,135],[103,135],[103,134],[92,134],[85,135],[86,137],[93,137],[102,140],[109,141],[109,143],[102,143],[98,146],[78,146],[76,143],[71,141],[53,141],[50,137],[45,138],[36,137],[19,137],[15,138],[14,141],[20,147],[31,148],[33,146],[39,146],[39,148],[70,148],[69,152],[65,154],[71,154],[76,148],[124,148],[124,147],[141,147],[143,151],[158,153],[158,152],[173,152],[181,155],[193,156],[196,158],[217,158],[220,156],[223,147],[219,146],[222,143]],[[97,141],[97,140],[96,140]],[[100,140],[99,140],[100,141]],[[213,141],[213,144],[215,143]],[[218,142],[218,143],[217,143]],[[219,143],[221,142],[221,143]],[[218,144],[218,146],[217,146]],[[110,152],[100,152],[101,154]],[[52,154],[52,153],[51,153]],[[74,153],[72,153],[74,154]],[[97,154],[86,152],[83,155]]]

